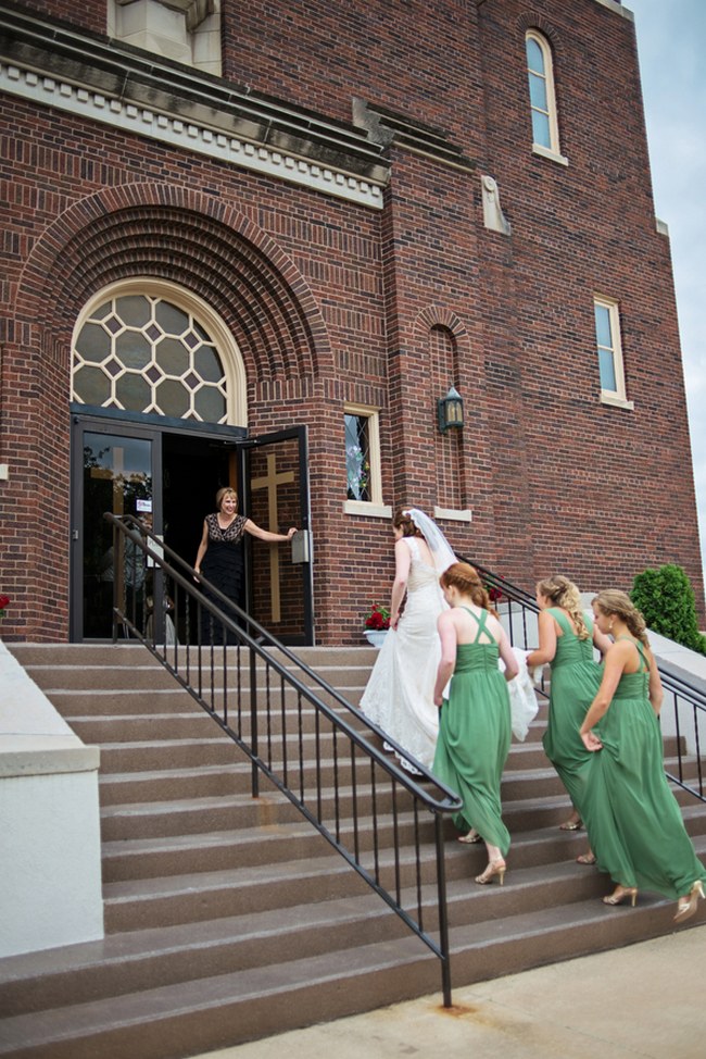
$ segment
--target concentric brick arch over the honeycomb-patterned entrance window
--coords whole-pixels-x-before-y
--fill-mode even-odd
[[[323,317],[292,261],[238,210],[188,188],[129,184],[73,205],[33,248],[17,316],[56,345],[92,295],[135,275],[200,295],[231,331],[251,379],[332,373]]]

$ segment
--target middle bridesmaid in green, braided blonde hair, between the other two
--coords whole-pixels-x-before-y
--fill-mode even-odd
[[[566,787],[573,811],[562,831],[578,831],[587,762],[590,760],[579,736],[579,726],[601,684],[602,670],[594,661],[593,648],[602,655],[610,640],[600,632],[581,607],[579,589],[560,574],[537,585],[539,647],[527,656],[527,668],[547,662],[552,669],[549,723],[544,752]],[[593,855],[579,857],[580,863],[592,864]]]

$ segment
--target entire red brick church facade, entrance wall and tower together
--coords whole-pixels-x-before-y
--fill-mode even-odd
[[[343,514],[344,401],[381,408],[384,501],[470,507],[470,526],[443,528],[510,580],[630,587],[675,561],[703,599],[631,23],[593,0],[533,5],[555,54],[563,166],[531,152],[522,3],[400,8],[293,3],[275,18],[224,0],[234,80],[345,121],[361,96],[479,160],[469,174],[393,148],[381,213],[0,99],[3,635],[67,635],[72,328],[93,292],[146,270],[231,328],[253,432],[310,426],[322,641],[360,643],[392,576],[384,520]],[[510,237],[483,227],[481,173]],[[632,412],[598,399],[594,291],[620,302]],[[441,437],[452,381],[466,427]]]

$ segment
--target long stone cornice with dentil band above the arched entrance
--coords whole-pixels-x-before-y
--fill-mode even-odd
[[[381,210],[390,163],[343,123],[129,46],[0,11],[0,90]]]

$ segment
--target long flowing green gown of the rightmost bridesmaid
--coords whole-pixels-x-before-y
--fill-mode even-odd
[[[601,871],[621,886],[677,898],[696,880],[706,881],[706,870],[665,775],[643,645],[631,636],[619,638],[635,645],[641,664],[620,677],[596,726],[603,749],[591,753],[584,819]]]

